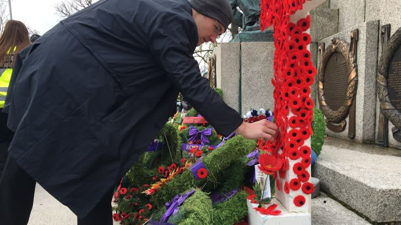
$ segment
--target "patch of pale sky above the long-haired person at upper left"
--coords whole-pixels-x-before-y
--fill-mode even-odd
[[[6,0],[0,0],[6,1]],[[12,18],[42,35],[60,21],[54,14],[57,0],[11,0]]]

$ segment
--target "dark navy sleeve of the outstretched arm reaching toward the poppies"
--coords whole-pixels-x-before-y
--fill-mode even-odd
[[[192,55],[197,42],[196,25],[190,15],[161,15],[157,26],[149,32],[152,55],[174,86],[218,133],[228,136],[243,120],[209,86],[208,79],[200,76],[199,65]]]

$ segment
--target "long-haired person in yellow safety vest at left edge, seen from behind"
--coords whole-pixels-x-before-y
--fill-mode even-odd
[[[8,155],[13,133],[7,127],[8,114],[3,113],[4,101],[14,66],[14,56],[30,44],[26,26],[20,21],[9,20],[0,36],[0,180]]]

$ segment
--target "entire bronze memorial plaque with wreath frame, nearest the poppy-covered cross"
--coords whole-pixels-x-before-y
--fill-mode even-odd
[[[342,132],[347,126],[348,137],[355,137],[355,95],[358,84],[357,71],[358,30],[351,32],[351,44],[333,38],[324,49],[319,45],[318,97],[320,110],[326,117],[327,129]]]

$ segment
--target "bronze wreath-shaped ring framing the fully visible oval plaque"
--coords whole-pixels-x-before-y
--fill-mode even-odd
[[[319,104],[320,110],[322,110],[323,114],[326,116],[327,122],[333,123],[341,123],[345,117],[347,117],[350,106],[352,104],[353,98],[355,97],[357,83],[358,83],[358,72],[357,72],[357,64],[353,62],[353,59],[349,57],[349,48],[350,44],[345,40],[340,40],[339,38],[332,39],[332,43],[327,46],[325,49],[322,57],[320,58],[319,63],[319,70],[318,70],[318,97],[319,97]],[[341,53],[346,60],[348,60],[348,91],[347,96],[343,101],[343,105],[336,111],[332,110],[329,106],[327,106],[326,101],[324,99],[324,72],[325,72],[325,65],[330,59],[330,56],[334,52]],[[344,128],[342,128],[343,130]],[[341,130],[341,131],[342,131]],[[340,132],[340,131],[339,131]]]

